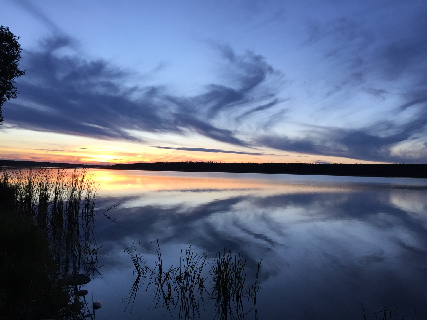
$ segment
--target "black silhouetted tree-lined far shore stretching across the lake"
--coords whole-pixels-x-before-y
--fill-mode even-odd
[[[287,175],[338,175],[355,177],[427,178],[427,164],[419,163],[216,163],[155,162],[123,163],[111,166],[74,163],[0,160],[1,166],[41,168],[121,169],[148,171],[267,173]]]

